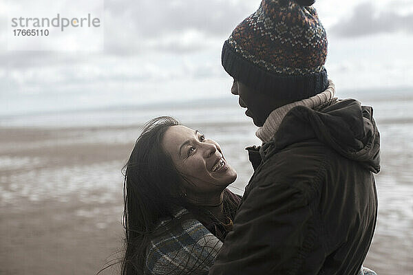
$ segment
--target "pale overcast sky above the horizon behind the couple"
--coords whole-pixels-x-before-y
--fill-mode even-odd
[[[229,97],[222,43],[260,5],[107,0],[102,51],[9,51],[8,17],[17,3],[30,2],[0,0],[0,115]],[[63,10],[73,4],[55,2]],[[326,68],[337,93],[413,90],[412,0],[318,0],[315,8],[327,30]]]

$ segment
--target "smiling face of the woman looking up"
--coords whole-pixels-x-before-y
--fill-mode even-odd
[[[226,162],[220,145],[202,133],[177,125],[165,132],[162,140],[178,172],[189,181],[185,188],[192,192],[222,191],[237,178],[235,170]]]

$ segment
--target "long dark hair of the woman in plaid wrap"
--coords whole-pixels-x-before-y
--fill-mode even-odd
[[[145,251],[156,223],[172,217],[173,206],[184,204],[179,195],[182,178],[162,147],[167,129],[178,124],[177,120],[167,116],[147,122],[123,169],[123,275],[143,274]]]

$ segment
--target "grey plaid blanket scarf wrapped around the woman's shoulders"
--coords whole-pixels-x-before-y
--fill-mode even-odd
[[[240,196],[224,190],[224,213],[231,222],[240,201]],[[185,208],[173,214],[173,219],[179,221],[178,226],[151,239],[144,274],[208,274],[231,228],[214,217],[195,219],[197,214]],[[171,219],[162,220],[158,228],[169,223]]]

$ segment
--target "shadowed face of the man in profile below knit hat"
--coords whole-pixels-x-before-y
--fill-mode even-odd
[[[247,108],[245,114],[253,119],[256,126],[264,125],[268,115],[281,106],[275,98],[254,91],[237,80],[234,80],[231,93],[240,97],[238,103]]]

